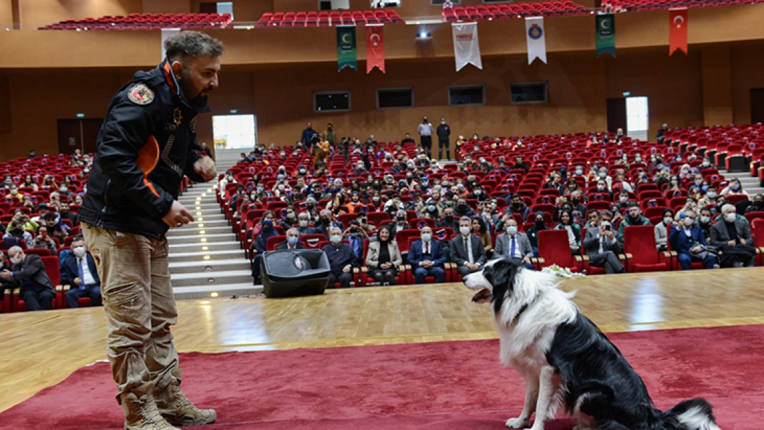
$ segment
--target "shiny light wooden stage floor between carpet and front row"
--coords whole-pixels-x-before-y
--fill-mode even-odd
[[[764,267],[565,280],[603,331],[764,323]],[[496,338],[461,284],[332,290],[296,299],[178,302],[180,352],[330,348]],[[102,308],[0,315],[0,411],[105,359]]]

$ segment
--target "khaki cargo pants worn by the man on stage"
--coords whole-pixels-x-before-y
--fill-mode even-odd
[[[136,391],[144,383],[163,390],[178,367],[170,333],[178,315],[167,241],[84,223],[83,236],[101,276],[117,401],[121,393]]]

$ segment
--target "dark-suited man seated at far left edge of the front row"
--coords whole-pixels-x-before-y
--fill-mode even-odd
[[[15,280],[21,286],[21,299],[31,311],[50,309],[56,296],[56,287],[50,282],[43,259],[39,255],[26,255],[21,247],[8,250],[11,270],[0,273],[3,280]]]

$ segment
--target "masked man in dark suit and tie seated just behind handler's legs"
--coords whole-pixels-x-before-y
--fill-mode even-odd
[[[72,257],[63,262],[63,274],[70,284],[64,298],[70,308],[77,308],[77,299],[90,298],[90,306],[101,306],[101,278],[95,260],[85,247],[85,241],[77,236],[72,241]]]

